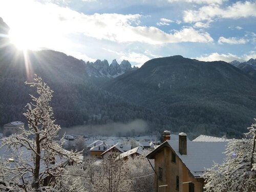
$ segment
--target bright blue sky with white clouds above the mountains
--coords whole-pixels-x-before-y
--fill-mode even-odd
[[[18,48],[84,61],[256,58],[255,0],[0,0],[0,17]]]

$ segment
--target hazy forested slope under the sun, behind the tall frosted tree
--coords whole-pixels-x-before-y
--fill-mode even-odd
[[[32,81],[33,74],[41,76],[54,91],[52,106],[57,123],[62,126],[134,119],[144,119],[150,125],[163,118],[171,121],[99,89],[90,82],[85,70],[84,61],[56,51],[29,51],[24,57],[22,51],[12,46],[0,49],[0,126],[10,121],[25,121],[24,106],[30,101],[32,89],[24,82]],[[164,124],[161,122],[160,127]]]

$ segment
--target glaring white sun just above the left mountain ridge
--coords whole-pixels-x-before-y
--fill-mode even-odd
[[[9,31],[10,42],[17,49],[27,51],[27,50],[37,50],[38,46],[35,35],[28,33],[26,31]]]

